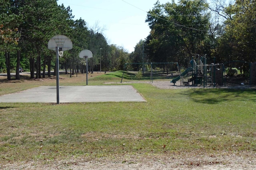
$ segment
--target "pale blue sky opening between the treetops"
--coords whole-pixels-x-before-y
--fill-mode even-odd
[[[89,28],[96,25],[103,30],[108,44],[134,51],[134,47],[150,32],[145,23],[147,11],[157,0],[58,0],[58,4],[70,6],[75,20],[82,18]],[[159,0],[165,4],[168,0]]]

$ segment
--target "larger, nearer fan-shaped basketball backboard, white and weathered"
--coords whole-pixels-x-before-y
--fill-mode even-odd
[[[55,51],[56,47],[59,47],[60,51],[67,51],[73,48],[73,43],[65,35],[55,35],[48,41],[48,49]]]

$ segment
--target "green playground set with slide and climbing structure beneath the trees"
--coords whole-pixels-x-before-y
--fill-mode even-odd
[[[180,85],[188,85],[190,82],[192,82],[193,85],[204,85],[205,86],[215,86],[218,85],[225,85],[227,81],[227,74],[225,66],[228,66],[230,63],[241,63],[249,66],[248,70],[250,77],[244,78],[244,81],[246,83],[250,82],[250,85],[256,84],[256,63],[248,63],[245,61],[229,61],[222,64],[206,64],[207,59],[206,55],[203,57],[200,57],[199,55],[196,55],[192,58],[190,61],[191,67],[187,68],[184,72],[180,74],[180,76],[174,78],[171,83],[175,83],[178,80],[180,81]],[[228,66],[228,71],[230,74],[238,74],[238,70],[231,68]],[[241,69],[242,70],[242,69]],[[241,72],[241,71],[240,71]],[[241,72],[242,73],[242,72]]]

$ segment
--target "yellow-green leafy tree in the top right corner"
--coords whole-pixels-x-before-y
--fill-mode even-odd
[[[236,0],[228,8],[232,19],[225,22],[225,35],[233,40],[234,59],[254,62],[256,60],[256,3],[251,0]]]

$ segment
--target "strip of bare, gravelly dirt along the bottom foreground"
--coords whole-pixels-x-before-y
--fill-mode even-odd
[[[255,152],[223,152],[216,154],[180,153],[180,154],[113,154],[112,157],[70,158],[68,160],[49,160],[12,162],[0,165],[3,170],[254,170]]]

